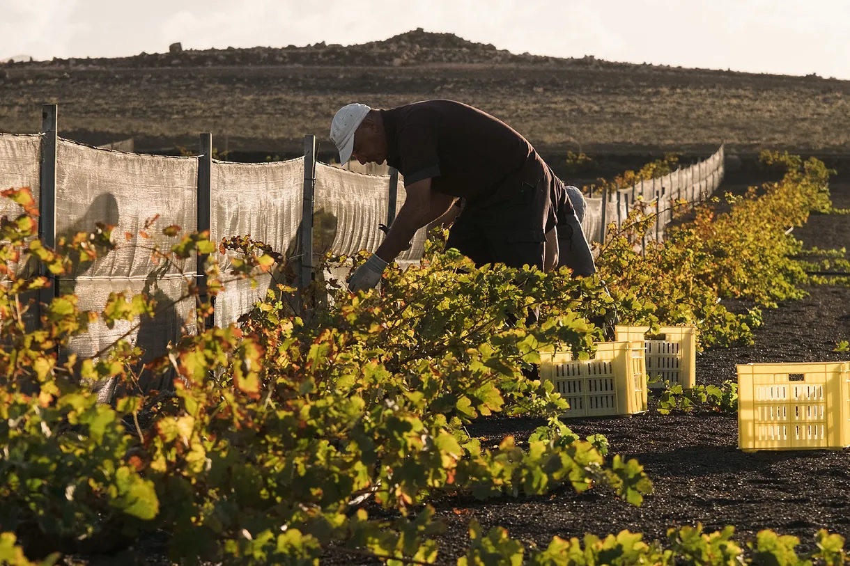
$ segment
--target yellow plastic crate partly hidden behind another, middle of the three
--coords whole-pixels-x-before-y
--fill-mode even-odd
[[[696,327],[661,326],[646,339],[649,326],[615,326],[617,340],[642,340],[646,344],[646,375],[660,376],[650,389],[663,389],[665,382],[683,389],[696,386]]]

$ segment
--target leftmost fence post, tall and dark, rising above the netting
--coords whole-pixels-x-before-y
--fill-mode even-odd
[[[58,134],[59,107],[42,105],[42,159],[39,167],[38,193],[38,239],[44,246],[56,246],[56,148]],[[38,293],[38,302],[49,304],[59,296],[59,280],[42,264],[41,275],[48,277],[50,285]],[[40,309],[41,307],[39,307]],[[39,310],[39,318],[41,310]]]

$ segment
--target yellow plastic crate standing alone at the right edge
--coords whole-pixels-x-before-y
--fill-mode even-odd
[[[738,366],[738,448],[850,445],[850,363]]]

